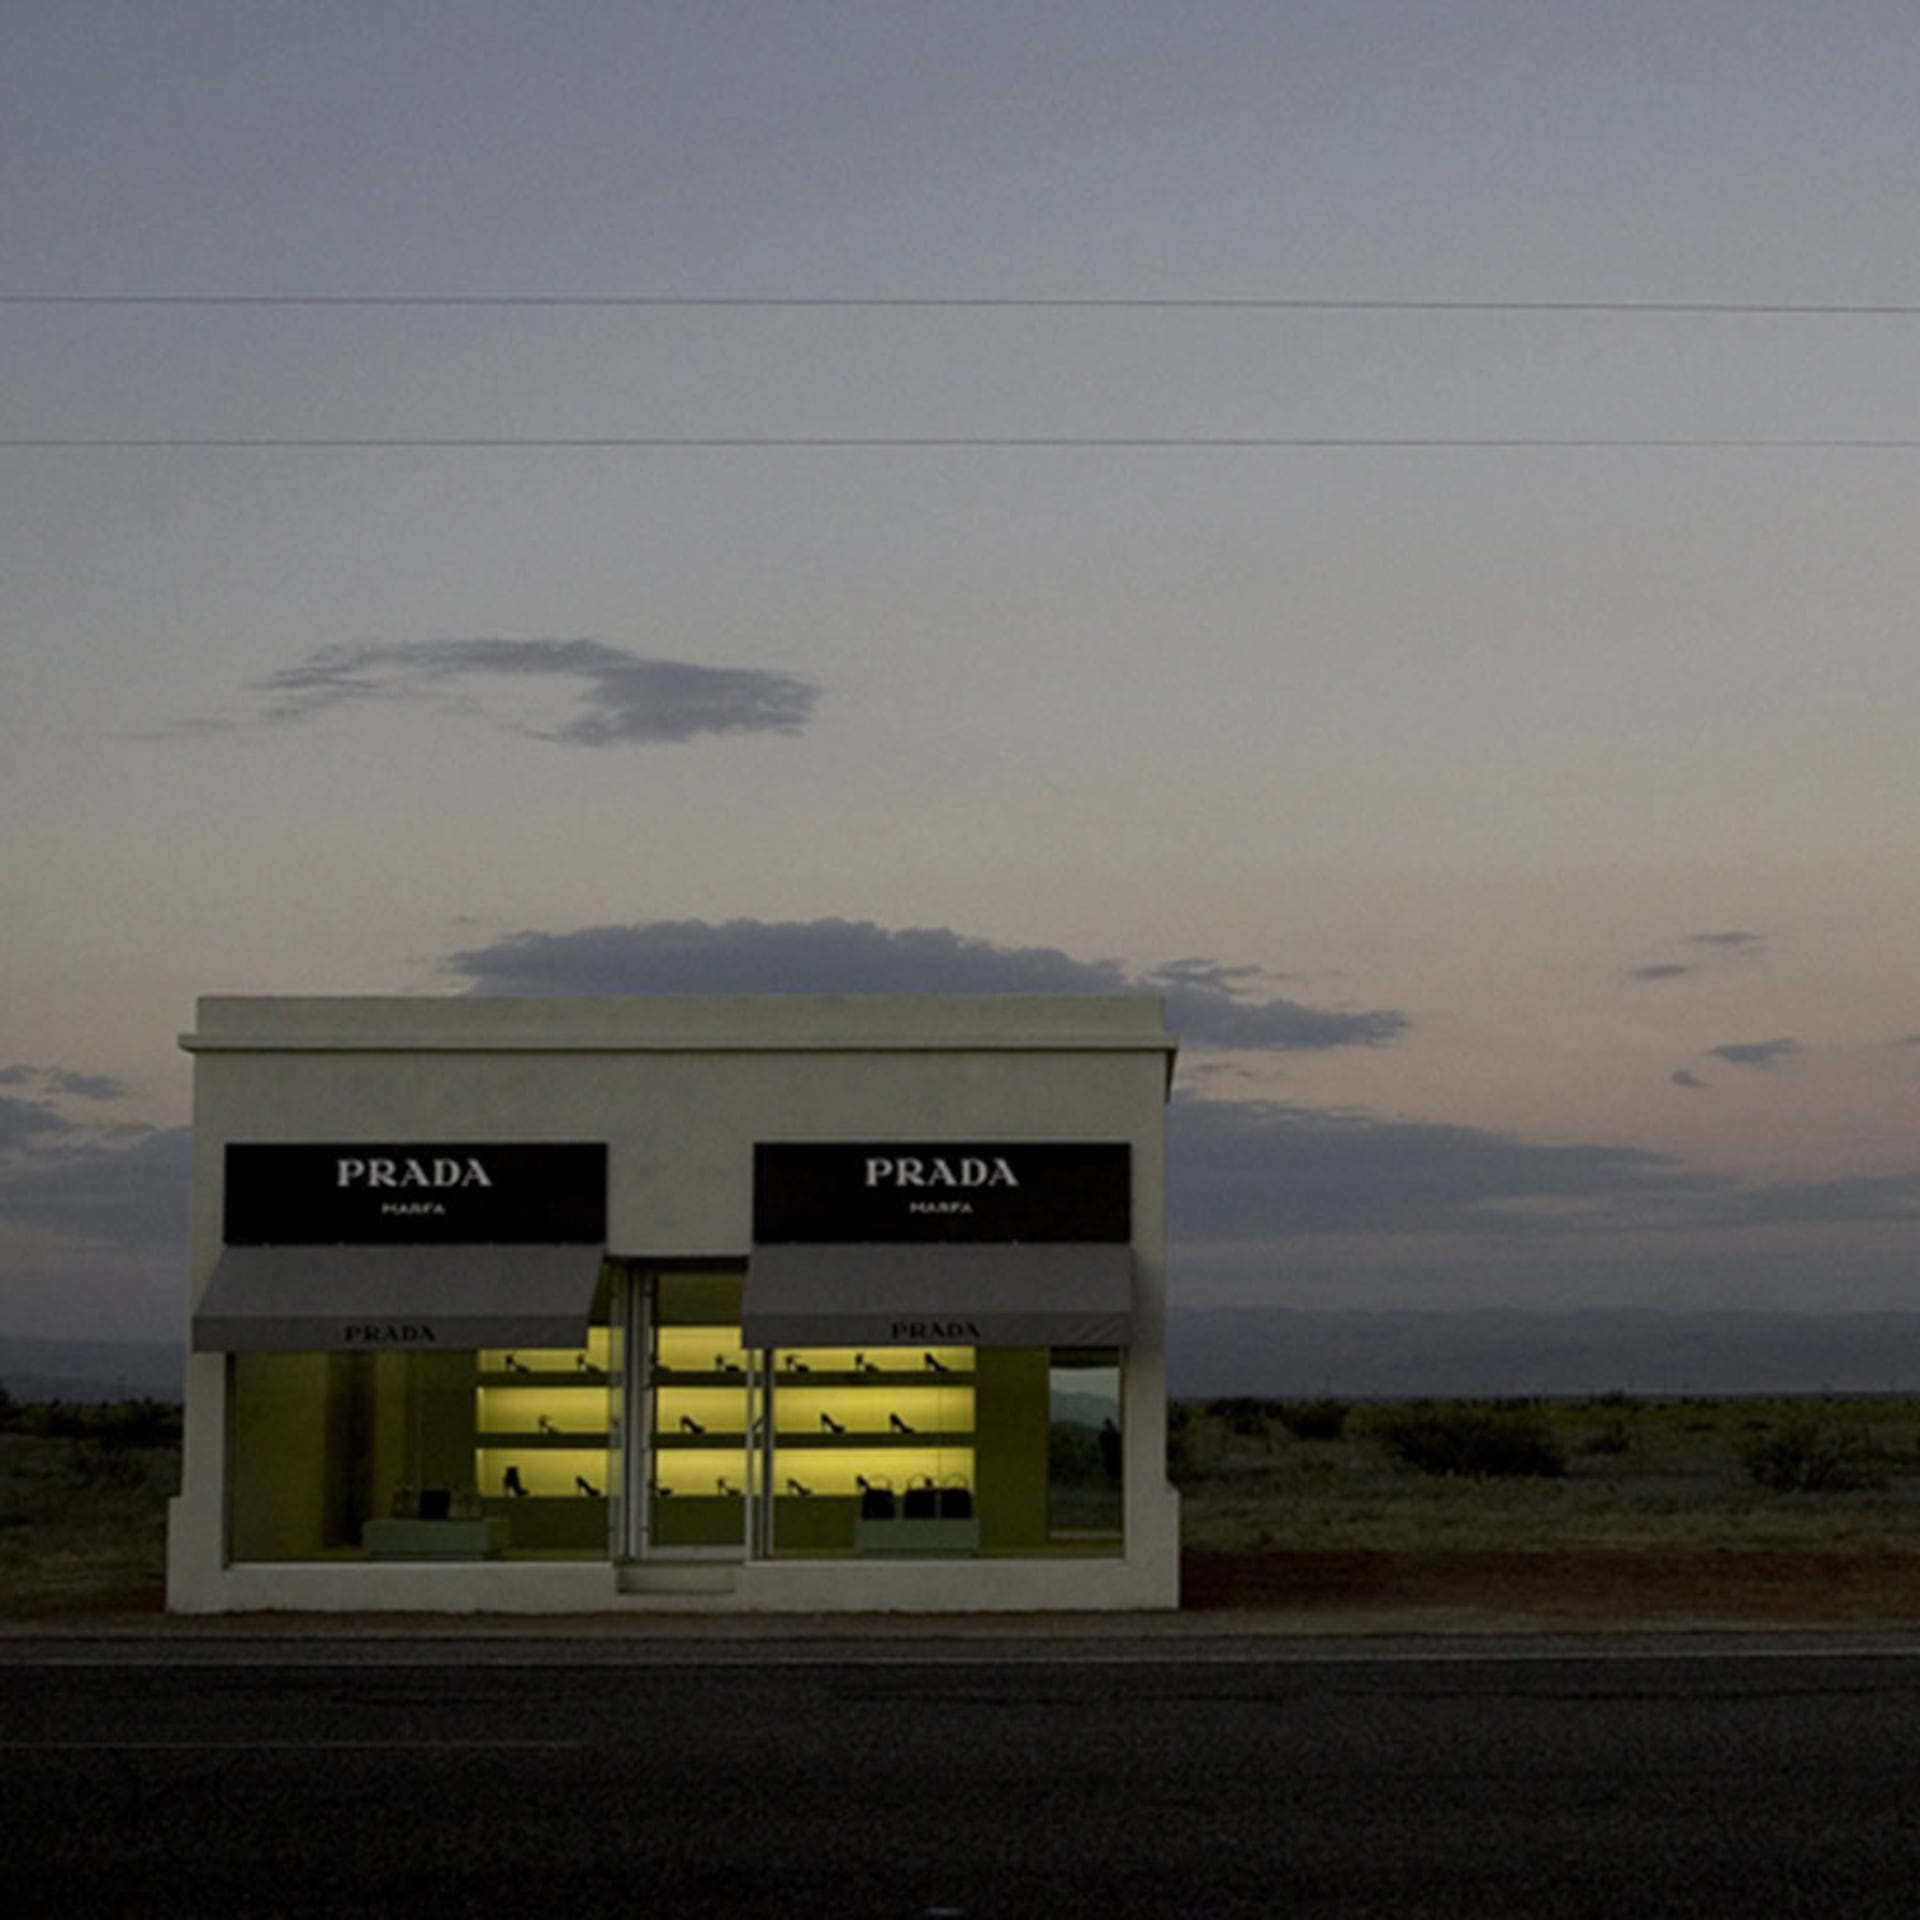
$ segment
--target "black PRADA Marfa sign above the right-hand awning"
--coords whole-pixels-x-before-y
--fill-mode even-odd
[[[1133,1238],[1131,1150],[1114,1142],[831,1142],[753,1150],[760,1246]]]

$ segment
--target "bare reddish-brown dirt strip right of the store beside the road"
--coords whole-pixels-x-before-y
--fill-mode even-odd
[[[1920,1551],[1188,1551],[1183,1605],[1542,1626],[1916,1626]]]

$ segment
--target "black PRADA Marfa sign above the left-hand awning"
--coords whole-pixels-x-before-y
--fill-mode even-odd
[[[228,1146],[228,1246],[601,1246],[607,1148]]]

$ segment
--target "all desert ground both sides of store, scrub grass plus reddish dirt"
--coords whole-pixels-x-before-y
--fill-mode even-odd
[[[0,1622],[159,1620],[177,1409],[12,1407]],[[1920,1400],[1171,1409],[1183,1596],[1304,1632],[1920,1626]]]

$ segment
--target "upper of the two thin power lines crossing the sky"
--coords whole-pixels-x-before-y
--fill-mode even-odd
[[[701,307],[1083,313],[1680,313],[1912,319],[1916,301],[1859,300],[1292,300],[1238,296],[895,294],[0,294],[0,307]]]

